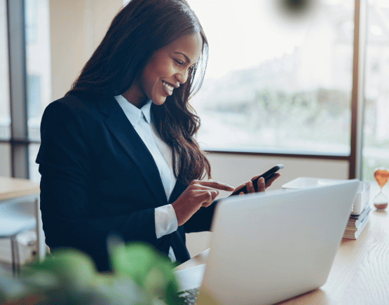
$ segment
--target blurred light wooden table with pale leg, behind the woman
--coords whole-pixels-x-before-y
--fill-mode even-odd
[[[17,203],[21,201],[34,201],[36,217],[36,238],[38,244],[38,257],[43,259],[46,254],[46,245],[39,210],[39,183],[31,182],[29,179],[0,177],[0,204]]]

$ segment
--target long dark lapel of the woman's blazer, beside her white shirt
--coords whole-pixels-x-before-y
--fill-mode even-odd
[[[168,204],[161,176],[153,156],[151,156],[149,149],[147,149],[130,121],[128,121],[123,109],[121,109],[114,97],[111,97],[109,100],[100,100],[98,103],[100,111],[108,116],[104,123],[125,151],[127,151],[139,168],[139,171],[142,172],[144,179],[158,202],[158,206]]]

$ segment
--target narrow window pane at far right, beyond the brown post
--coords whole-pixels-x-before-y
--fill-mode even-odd
[[[369,1],[362,177],[389,168],[389,1]]]

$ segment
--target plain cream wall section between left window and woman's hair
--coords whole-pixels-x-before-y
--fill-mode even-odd
[[[69,90],[123,0],[50,0],[52,100]]]

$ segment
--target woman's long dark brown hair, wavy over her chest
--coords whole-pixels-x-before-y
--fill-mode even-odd
[[[203,50],[186,83],[161,106],[152,104],[161,138],[172,147],[175,177],[184,184],[210,177],[210,163],[194,136],[200,118],[189,104],[203,83],[208,43],[203,27],[185,0],[132,0],[118,12],[69,94],[88,93],[106,98],[125,93],[153,53],[185,35],[200,33]],[[196,76],[199,71],[200,75]]]

